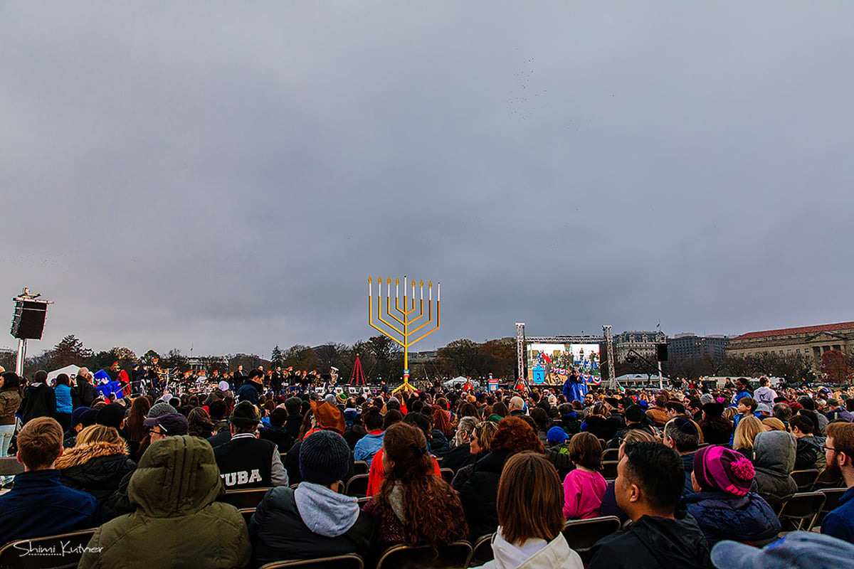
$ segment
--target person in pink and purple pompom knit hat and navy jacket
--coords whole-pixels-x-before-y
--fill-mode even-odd
[[[762,543],[781,531],[774,509],[751,491],[755,475],[752,462],[734,450],[711,445],[694,454],[694,493],[682,502],[710,547],[724,539]]]

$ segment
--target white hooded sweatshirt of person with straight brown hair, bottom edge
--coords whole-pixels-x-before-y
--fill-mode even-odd
[[[492,542],[495,559],[481,569],[584,569],[582,558],[570,549],[562,534],[552,541],[529,539],[520,546],[508,543],[501,528]]]

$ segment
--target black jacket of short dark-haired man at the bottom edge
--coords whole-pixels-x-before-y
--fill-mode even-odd
[[[600,539],[588,569],[713,569],[697,521],[643,516],[623,531]]]

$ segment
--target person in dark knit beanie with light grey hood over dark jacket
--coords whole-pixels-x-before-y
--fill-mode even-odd
[[[252,564],[282,559],[312,559],[329,555],[366,555],[371,548],[373,522],[358,499],[337,490],[353,459],[344,438],[318,431],[301,441],[303,481],[292,490],[273,488],[249,521]]]

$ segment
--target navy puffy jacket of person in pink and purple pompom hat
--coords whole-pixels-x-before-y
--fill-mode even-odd
[[[696,518],[709,548],[723,539],[755,542],[775,537],[780,520],[762,496],[750,492],[734,496],[727,492],[704,491],[682,496],[688,514]]]

